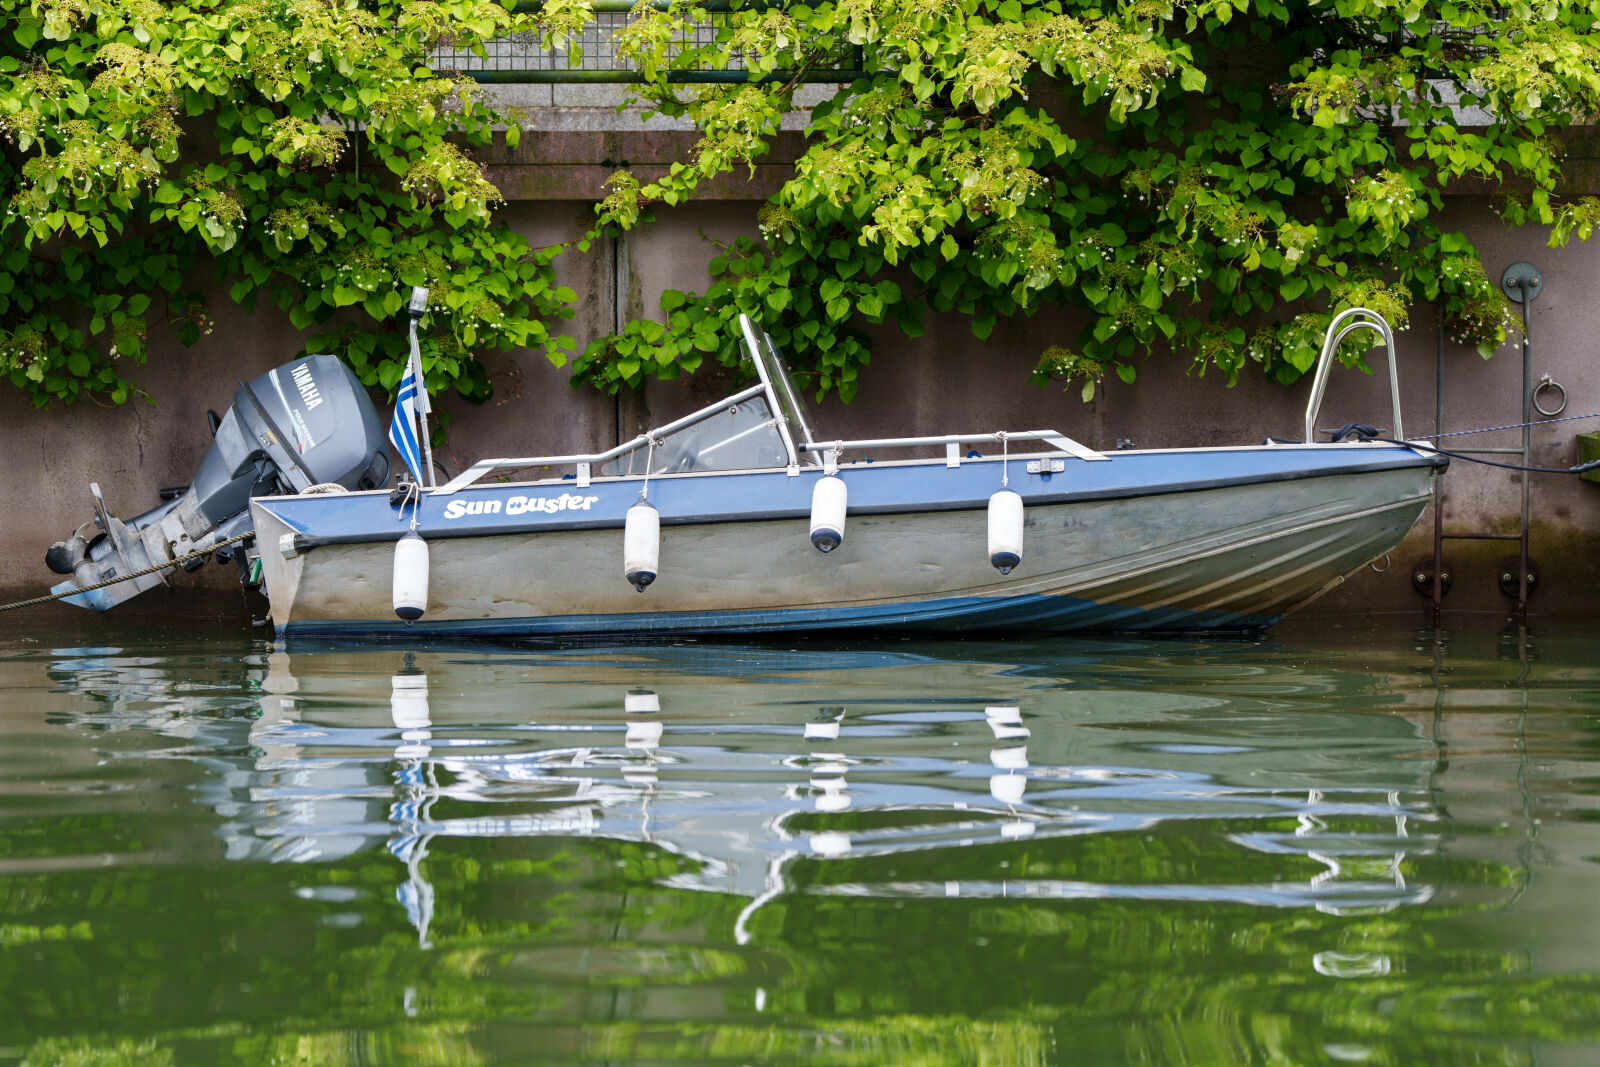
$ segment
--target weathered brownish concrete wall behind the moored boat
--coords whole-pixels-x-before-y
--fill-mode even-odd
[[[517,152],[491,158],[491,173],[514,198],[507,214],[534,245],[570,240],[584,232],[592,200],[611,166],[627,160],[635,168],[664,165],[682,150],[685,134],[550,133],[530,136]],[[672,211],[626,242],[571,251],[558,261],[560,280],[579,293],[578,317],[566,325],[578,346],[606,333],[621,318],[658,314],[664,288],[699,288],[704,264],[715,254],[706,240],[728,240],[754,232],[755,203],[782,179],[784,146],[773,165],[755,178],[730,179],[712,197]],[[1566,414],[1600,411],[1600,245],[1552,251],[1544,234],[1506,229],[1478,198],[1451,208],[1458,224],[1483,251],[1491,278],[1515,261],[1533,262],[1544,277],[1533,312],[1533,378],[1552,374],[1570,395]],[[96,480],[110,507],[122,515],[155,502],[158,486],[182,485],[210,445],[206,408],[224,410],[235,382],[290,358],[301,338],[275,312],[246,317],[219,294],[213,306],[216,330],[194,349],[173,338],[152,338],[152,363],[139,374],[154,405],[101,408],[78,403],[35,411],[14,390],[0,390],[0,445],[8,462],[0,467],[6,502],[0,522],[0,593],[5,600],[34,595],[53,581],[43,552],[90,517],[88,483]],[[861,392],[845,406],[821,406],[826,437],[878,437],[952,430],[1038,429],[1066,432],[1096,448],[1115,448],[1118,438],[1136,446],[1256,443],[1266,435],[1299,437],[1307,382],[1282,389],[1248,371],[1229,389],[1213,373],[1187,374],[1170,358],[1139,365],[1136,386],[1112,381],[1091,405],[1077,389],[1037,389],[1027,373],[1048,344],[1070,339],[1069,315],[1042,310],[1032,318],[1002,323],[986,341],[971,338],[960,320],[931,323],[918,341],[893,328],[877,331],[878,344]],[[1435,330],[1432,309],[1414,309],[1411,328],[1400,334],[1405,429],[1430,434],[1435,405]],[[490,358],[496,397],[485,406],[442,398],[454,413],[451,467],[482,456],[550,454],[603,448],[634,437],[648,422],[662,422],[720,394],[709,379],[653,384],[642,397],[603,397],[574,392],[568,371],[531,354]],[[1390,424],[1387,376],[1374,358],[1373,376],[1336,370],[1320,426],[1349,421]],[[1515,344],[1493,360],[1454,346],[1445,347],[1445,430],[1520,421],[1522,360]],[[1600,429],[1589,422],[1549,422],[1534,429],[1534,462],[1566,467],[1574,462],[1573,435]],[[1470,445],[1518,443],[1517,432],[1451,438]],[[1520,507],[1518,475],[1458,462],[1445,480],[1446,526],[1451,530],[1515,530]],[[1547,614],[1600,611],[1600,485],[1573,477],[1534,475],[1533,558],[1541,584],[1531,608]],[[1315,613],[1410,613],[1424,617],[1426,600],[1410,587],[1408,563],[1430,553],[1432,518],[1424,515],[1384,574],[1363,573],[1334,590]],[[1502,613],[1507,601],[1496,585],[1494,563],[1506,544],[1450,542],[1446,558],[1454,589],[1446,611]],[[125,614],[162,614],[184,609],[240,614],[230,568],[206,566],[178,576],[174,585],[211,590],[181,597],[147,593],[125,606]],[[67,613],[69,608],[51,608]]]

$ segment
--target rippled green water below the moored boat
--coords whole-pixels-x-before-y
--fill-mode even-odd
[[[1594,1064],[1597,633],[0,637],[0,1062]]]

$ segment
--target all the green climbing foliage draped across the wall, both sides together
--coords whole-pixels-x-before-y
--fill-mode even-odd
[[[0,90],[11,85],[0,117],[14,138],[5,192],[18,211],[13,240],[0,243],[8,333],[99,326],[131,339],[146,328],[144,307],[136,314],[130,301],[133,318],[118,323],[122,309],[101,298],[162,293],[192,341],[210,322],[205,301],[221,291],[186,285],[216,269],[234,299],[267,293],[299,328],[336,323],[318,334],[330,350],[365,382],[392,384],[406,347],[390,328],[397,301],[429,285],[429,373],[469,398],[490,390],[474,350],[530,349],[552,363],[578,352],[560,333],[578,298],[555,283],[552,261],[568,250],[592,256],[592,243],[622,226],[643,238],[653,210],[742,181],[755,165],[782,174],[763,206],[763,240],[718,243],[704,278],[674,275],[661,298],[669,325],[621,323],[574,355],[578,381],[618,389],[701,360],[734,368],[746,312],[766,320],[797,366],[814,368],[818,389],[848,397],[874,373],[867,322],[888,317],[915,336],[928,310],[955,312],[990,339],[1000,318],[1040,306],[1086,315],[1083,341],[1102,339],[1082,376],[1088,397],[1098,374],[1125,378],[1134,358],[1189,360],[1200,338],[1240,338],[1206,357],[1232,378],[1251,363],[1235,331],[1274,320],[1282,333],[1277,304],[1403,309],[1442,290],[1462,299],[1477,274],[1453,272],[1477,267],[1472,246],[1434,222],[1440,190],[1462,181],[1517,190],[1507,221],[1518,226],[1555,222],[1562,237],[1582,237],[1600,222],[1600,210],[1574,214],[1581,197],[1557,198],[1565,187],[1552,155],[1552,134],[1594,110],[1584,104],[1597,93],[1590,19],[1546,0],[1509,10],[1506,40],[1462,43],[1467,59],[1446,56],[1446,35],[1486,34],[1483,13],[1454,3],[1290,11],[1277,0],[1208,0],[1181,13],[1022,0],[949,11],[741,3],[717,14],[715,35],[682,50],[670,42],[701,29],[699,8],[653,10],[630,24],[659,35],[632,56],[648,78],[635,86],[640,102],[702,134],[693,150],[650,157],[650,176],[619,176],[590,232],[541,250],[506,224],[525,226],[526,205],[502,211],[485,171],[520,155],[520,120],[494,114],[493,98],[446,106],[450,86],[421,59],[432,40],[478,48],[533,27],[531,13],[510,14],[518,5],[166,5],[173,18],[149,27],[126,22],[138,13],[126,5],[11,6],[11,48],[0,50]],[[1534,26],[1547,11],[1555,21]],[[1438,19],[1453,29],[1435,29]],[[154,40],[134,77],[102,48],[141,34]],[[845,42],[893,74],[811,109],[792,166],[773,162],[789,158],[787,144],[781,157],[773,149],[792,86],[690,94],[675,82],[686,67],[734,61],[774,72]],[[1266,66],[1229,62],[1242,54]],[[1456,109],[1400,93],[1419,70],[1461,110],[1515,122],[1485,133],[1462,126]],[[48,85],[35,85],[38,72]],[[168,99],[182,109],[181,139],[149,122]],[[1400,125],[1360,118],[1390,106]],[[333,166],[314,162],[314,149],[334,149],[318,139],[352,120],[358,146],[346,144]],[[118,395],[115,365],[82,339],[53,344],[35,362],[48,373],[27,365],[5,381],[35,403],[86,389]],[[88,354],[85,376],[69,373],[75,349]],[[1283,376],[1299,358],[1291,350],[1262,370]]]

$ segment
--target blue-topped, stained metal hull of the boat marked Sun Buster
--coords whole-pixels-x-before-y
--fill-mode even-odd
[[[427,498],[429,606],[411,624],[390,605],[410,514],[384,494],[253,509],[285,637],[1258,630],[1394,547],[1437,470],[1400,448],[1339,462],[1317,448],[1298,450],[1304,462],[1262,448],[1211,450],[1208,464],[1205,451],[1130,456],[1122,470],[1122,456],[1069,461],[1054,482],[1048,461],[1043,475],[1013,461],[1024,553],[1005,576],[987,557],[982,506],[1002,475],[989,461],[843,470],[851,514],[830,553],[806,536],[819,472],[653,478],[661,566],[645,592],[622,577],[621,518],[638,480]],[[293,558],[274,550],[296,536]]]

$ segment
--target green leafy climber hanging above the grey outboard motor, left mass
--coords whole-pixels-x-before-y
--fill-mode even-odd
[[[0,374],[40,405],[125,402],[154,326],[211,331],[206,269],[246,309],[322,326],[309,347],[370,386],[398,381],[413,285],[430,290],[435,390],[488,395],[485,349],[562,363],[557,253],[493,219],[467,154],[504,117],[427,56],[544,34],[574,6],[0,0]]]

